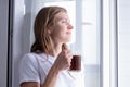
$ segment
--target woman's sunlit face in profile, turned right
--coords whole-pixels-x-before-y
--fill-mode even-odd
[[[55,15],[54,25],[51,26],[51,37],[56,42],[68,42],[72,39],[72,29],[67,13],[60,12]]]

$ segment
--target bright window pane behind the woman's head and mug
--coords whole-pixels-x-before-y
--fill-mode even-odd
[[[82,53],[86,65],[86,87],[101,87],[99,3],[100,0],[34,0],[32,2],[34,16],[47,5],[60,5],[67,9],[75,28],[73,41],[68,45],[70,49],[75,47]]]

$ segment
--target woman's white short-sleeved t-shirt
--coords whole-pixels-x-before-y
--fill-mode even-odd
[[[51,55],[47,57],[44,53],[25,54],[20,64],[20,84],[23,82],[38,82],[39,84],[43,84],[46,76],[48,75],[54,61],[55,58]],[[84,87],[83,71],[62,71],[57,77],[55,87]]]

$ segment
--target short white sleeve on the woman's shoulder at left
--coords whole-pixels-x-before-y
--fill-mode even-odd
[[[40,83],[38,63],[31,53],[24,55],[20,63],[20,84],[24,82]]]

